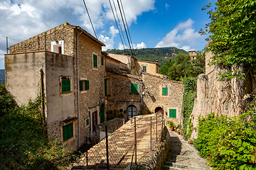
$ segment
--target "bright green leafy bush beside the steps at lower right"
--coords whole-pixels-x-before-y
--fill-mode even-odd
[[[238,118],[209,114],[199,120],[196,148],[214,169],[256,169],[255,123],[255,111]]]

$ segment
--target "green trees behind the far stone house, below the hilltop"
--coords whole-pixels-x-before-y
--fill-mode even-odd
[[[169,79],[182,81],[186,77],[197,77],[205,72],[204,52],[198,51],[197,58],[191,60],[190,55],[180,53],[174,56],[174,61],[166,62],[160,67],[159,72],[168,76]]]

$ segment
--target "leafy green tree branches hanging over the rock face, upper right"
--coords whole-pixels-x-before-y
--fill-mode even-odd
[[[211,64],[222,64],[230,69],[234,64],[256,66],[256,1],[218,0],[214,5],[206,5],[210,23],[199,33],[209,34],[207,50],[213,52]],[[242,78],[240,72],[228,73],[228,79]],[[225,73],[223,73],[225,74]]]

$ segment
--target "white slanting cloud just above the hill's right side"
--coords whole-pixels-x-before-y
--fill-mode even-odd
[[[193,23],[190,18],[188,21],[179,23],[171,32],[169,32],[156,47],[178,47],[183,50],[190,50],[192,45],[197,44],[200,34],[193,29]]]

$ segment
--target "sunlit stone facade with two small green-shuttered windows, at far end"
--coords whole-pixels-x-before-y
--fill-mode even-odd
[[[183,96],[183,83],[164,79],[152,74],[142,74],[144,84],[144,108],[155,112],[155,109],[164,108],[164,118],[172,120],[176,125],[181,124],[181,104]],[[162,87],[168,88],[168,95],[162,95]],[[169,118],[169,109],[176,109],[176,118]]]

